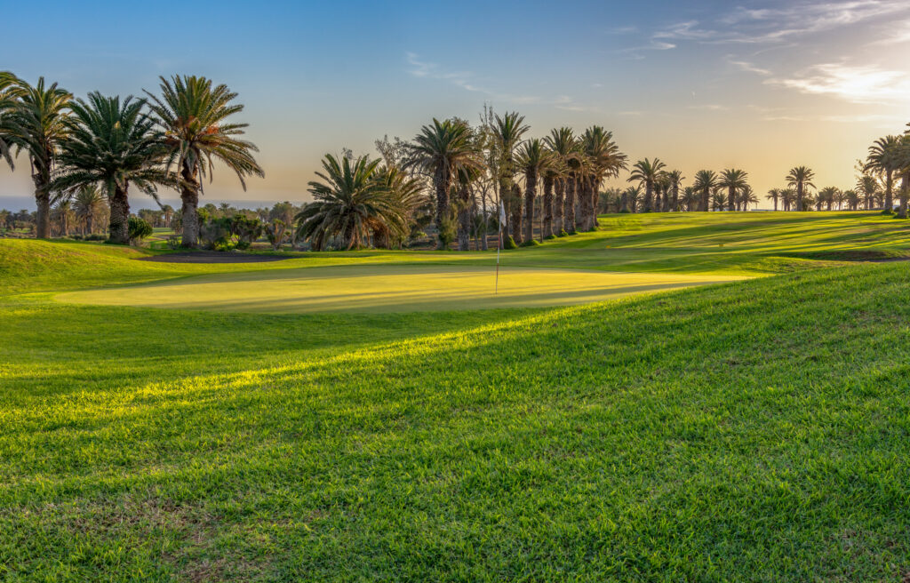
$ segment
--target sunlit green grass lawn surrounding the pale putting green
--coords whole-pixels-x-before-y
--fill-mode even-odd
[[[180,265],[0,240],[0,579],[910,576],[910,263],[842,261],[905,255],[906,223],[602,225],[504,270],[758,277],[571,307],[412,305],[430,289],[395,311],[211,311],[190,309],[206,286],[238,302],[332,269],[375,277],[381,306],[493,254]],[[99,289],[181,309],[58,296]]]

